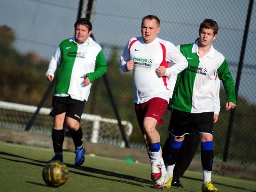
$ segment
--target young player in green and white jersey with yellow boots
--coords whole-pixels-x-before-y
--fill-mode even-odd
[[[236,106],[233,78],[225,57],[213,48],[218,25],[205,19],[199,29],[199,39],[193,44],[180,45],[188,67],[178,74],[171,101],[169,125],[170,143],[167,171],[172,176],[184,136],[193,127],[200,134],[203,168],[203,192],[218,192],[211,182],[213,164],[213,124],[215,106],[219,97],[220,81],[227,95],[226,110]],[[164,73],[164,71],[163,71]],[[220,81],[219,81],[219,80]]]

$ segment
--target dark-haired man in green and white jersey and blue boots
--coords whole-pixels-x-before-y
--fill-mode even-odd
[[[54,53],[46,73],[48,81],[54,80],[58,68],[50,115],[54,117],[52,131],[55,156],[50,160],[63,162],[63,126],[66,124],[75,145],[75,165],[85,161],[83,132],[80,119],[88,101],[92,82],[107,71],[101,46],[91,37],[92,23],[81,18],[75,23],[75,37],[66,39]]]

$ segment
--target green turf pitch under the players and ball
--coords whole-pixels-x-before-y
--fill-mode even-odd
[[[0,192],[150,192],[150,165],[85,155],[81,167],[73,165],[75,154],[64,152],[69,179],[54,188],[42,179],[42,170],[53,151],[0,141]],[[256,192],[256,181],[212,176],[220,192]],[[200,192],[202,173],[186,171],[181,178],[184,188],[163,189],[170,192]]]

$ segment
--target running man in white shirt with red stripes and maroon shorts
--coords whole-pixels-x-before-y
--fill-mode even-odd
[[[171,187],[171,178],[165,170],[156,124],[163,124],[162,115],[166,111],[170,90],[169,75],[175,75],[187,66],[186,58],[169,41],[157,37],[160,20],[155,15],[147,15],[141,22],[141,37],[133,37],[127,43],[121,57],[124,72],[132,70],[133,102],[151,161],[151,178],[156,189]],[[174,65],[168,67],[169,62]],[[158,71],[165,68],[160,77]]]

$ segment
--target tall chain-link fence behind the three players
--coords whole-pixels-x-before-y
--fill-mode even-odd
[[[58,44],[74,35],[78,18],[79,0],[8,0],[0,1],[0,101],[37,106],[49,87],[45,80],[48,62]],[[83,1],[85,8],[87,1]],[[234,81],[241,57],[245,26],[250,0],[93,0],[90,14],[93,37],[101,44],[108,62],[106,78],[93,82],[85,113],[116,119],[113,104],[121,120],[132,124],[132,134],[127,137],[131,148],[144,149],[132,99],[132,73],[123,73],[119,60],[131,37],[140,36],[141,19],[145,15],[160,18],[158,37],[173,44],[192,43],[198,37],[199,25],[205,18],[217,21],[218,37],[214,47],[225,55]],[[228,162],[256,166],[256,3],[254,2],[248,38],[239,81],[237,107],[230,123],[230,111],[225,111],[225,92],[221,89],[221,111],[214,132],[214,153],[222,161],[228,127],[232,127],[228,148]],[[108,80],[109,90],[106,89]],[[238,82],[236,82],[238,83]],[[50,108],[53,91],[43,107]],[[112,100],[111,100],[112,99]],[[0,110],[0,126],[7,122],[26,125],[32,114]],[[163,116],[165,124],[158,126],[162,142],[168,136],[170,111]],[[52,118],[39,116],[37,123],[51,130]],[[23,127],[24,127],[23,125]],[[119,130],[109,123],[102,124],[99,142],[115,140]],[[91,130],[92,123],[84,120],[83,128]],[[6,127],[6,126],[5,126]],[[116,126],[115,126],[116,127]],[[6,127],[8,128],[8,127]],[[11,127],[14,128],[14,127]],[[126,127],[124,127],[125,130]],[[87,131],[88,132],[88,131]],[[85,131],[86,139],[88,137]],[[90,132],[90,131],[89,131]],[[88,133],[89,134],[89,133]],[[120,133],[121,135],[121,133]],[[121,136],[118,137],[121,137]],[[117,136],[116,136],[117,137]],[[107,139],[106,139],[107,138]],[[114,144],[114,143],[113,143]],[[163,144],[163,143],[162,143]],[[200,149],[199,149],[200,150]],[[200,151],[197,153],[200,154]]]

